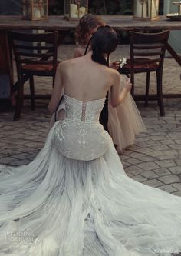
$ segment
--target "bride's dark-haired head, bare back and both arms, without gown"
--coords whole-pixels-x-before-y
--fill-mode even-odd
[[[105,98],[110,89],[111,104],[113,107],[119,105],[130,91],[130,81],[120,92],[120,74],[104,65],[105,58],[115,51],[118,42],[117,33],[112,28],[100,28],[91,38],[91,52],[61,62],[56,72],[49,111],[56,111],[63,89],[65,95],[84,102]]]

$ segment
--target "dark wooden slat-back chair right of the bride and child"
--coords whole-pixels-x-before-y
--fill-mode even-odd
[[[146,72],[145,105],[148,104],[150,72],[156,72],[157,101],[160,107],[160,115],[165,115],[163,105],[163,61],[166,52],[166,44],[169,31],[160,33],[130,32],[130,59],[120,68],[120,72],[130,74],[132,82],[131,94],[134,96],[134,74]]]

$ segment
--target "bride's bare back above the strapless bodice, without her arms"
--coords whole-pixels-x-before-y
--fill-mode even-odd
[[[63,87],[65,95],[80,101],[104,98],[114,83],[110,68],[91,60],[91,55],[64,62]]]

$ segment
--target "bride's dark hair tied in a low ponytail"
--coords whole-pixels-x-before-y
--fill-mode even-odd
[[[109,26],[98,28],[91,38],[92,60],[109,66],[109,55],[115,51],[118,42],[117,32],[113,28]],[[107,61],[104,58],[104,54],[107,54]]]

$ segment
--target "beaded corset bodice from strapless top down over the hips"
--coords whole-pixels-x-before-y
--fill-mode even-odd
[[[62,155],[84,161],[104,155],[110,140],[99,123],[104,101],[82,102],[64,95],[66,117],[54,124],[54,145]]]

